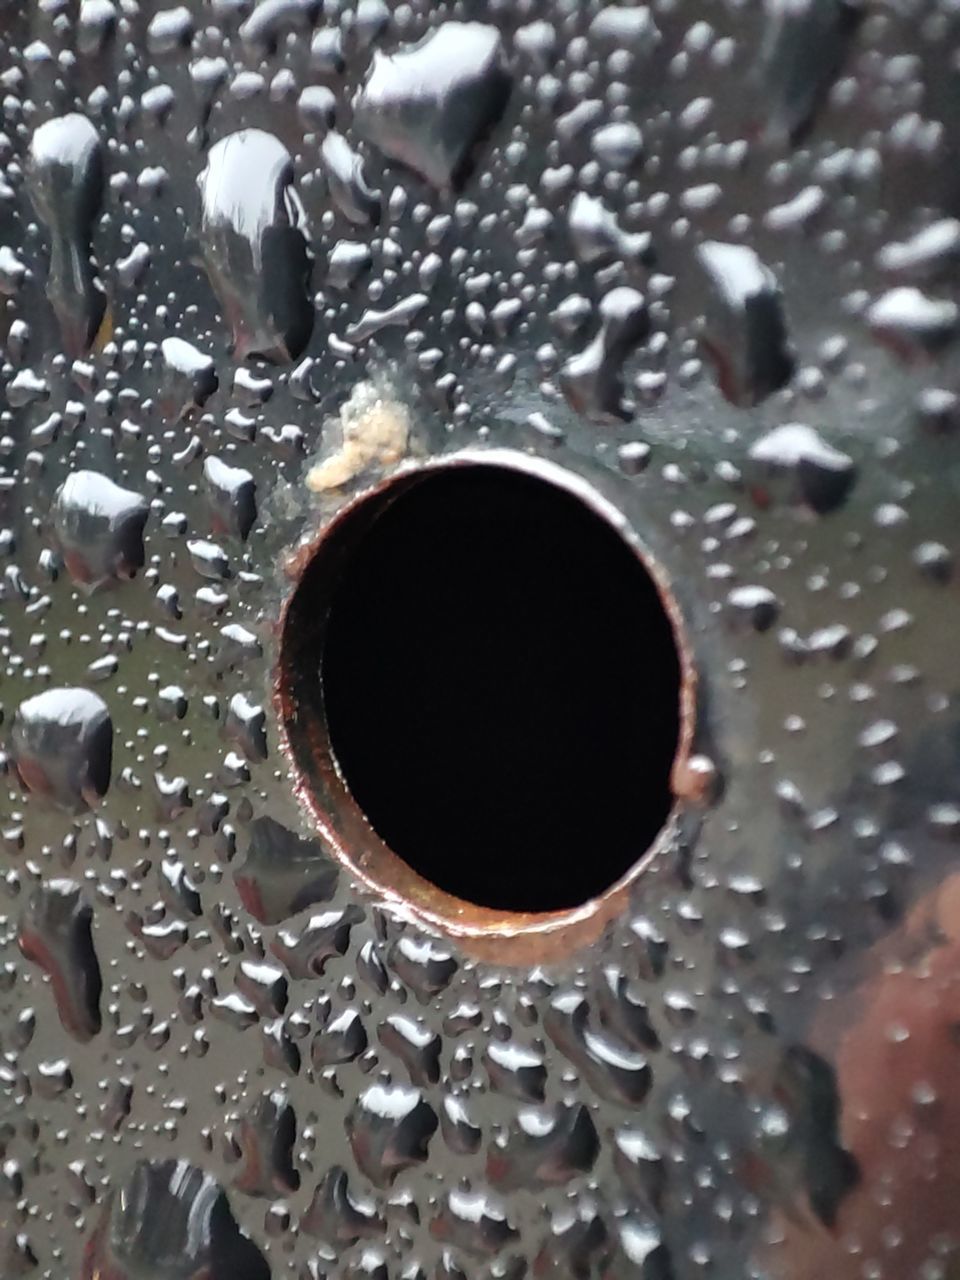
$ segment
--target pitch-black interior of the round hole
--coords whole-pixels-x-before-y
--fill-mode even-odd
[[[374,829],[481,906],[607,890],[667,818],[678,737],[675,636],[641,561],[556,485],[472,466],[385,502],[340,568],[320,686]]]

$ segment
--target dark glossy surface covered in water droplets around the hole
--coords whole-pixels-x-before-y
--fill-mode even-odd
[[[0,1275],[956,1276],[959,22],[8,0]],[[289,552],[413,440],[589,477],[694,648],[539,965],[279,749]]]

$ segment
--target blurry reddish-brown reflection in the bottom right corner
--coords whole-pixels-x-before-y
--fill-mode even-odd
[[[960,874],[868,960],[872,977],[813,1033],[860,1178],[832,1228],[795,1204],[774,1213],[764,1263],[782,1280],[948,1276],[960,1258]]]

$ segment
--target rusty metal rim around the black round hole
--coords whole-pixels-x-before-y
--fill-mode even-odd
[[[504,911],[477,906],[438,888],[420,876],[372,829],[353,799],[337,764],[325,718],[323,698],[305,699],[298,686],[310,671],[300,663],[301,649],[310,649],[316,667],[316,694],[320,695],[320,664],[316,641],[323,620],[307,635],[291,626],[305,576],[325,570],[319,580],[330,589],[348,562],[352,548],[372,521],[419,480],[454,467],[489,466],[520,471],[544,480],[575,498],[604,520],[630,547],[652,577],[673,632],[680,664],[680,727],[671,768],[673,804],[659,832],[640,858],[603,893],[575,908],[554,911]],[[366,516],[366,518],[364,518]],[[628,906],[632,886],[669,842],[682,801],[695,799],[695,772],[689,768],[695,728],[696,669],[680,607],[669,589],[662,566],[643,545],[627,517],[590,481],[559,463],[531,457],[513,449],[479,448],[406,462],[376,484],[351,495],[289,558],[288,576],[293,590],[287,595],[278,620],[279,658],[274,680],[274,704],[280,722],[284,754],[294,776],[300,803],[337,860],[394,914],[420,923],[431,933],[456,940],[470,955],[499,964],[536,964],[559,959],[594,942],[604,927]],[[312,593],[311,593],[312,594]]]

